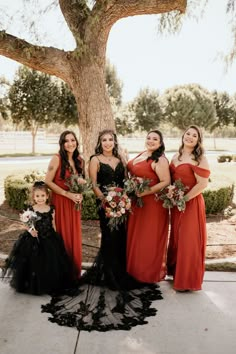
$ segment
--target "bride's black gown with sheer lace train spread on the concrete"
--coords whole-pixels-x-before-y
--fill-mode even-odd
[[[103,193],[109,185],[123,187],[123,180],[121,162],[115,170],[100,162],[97,183]],[[78,330],[129,330],[156,314],[151,304],[162,299],[161,292],[158,285],[140,283],[127,274],[125,224],[111,231],[109,219],[99,201],[97,204],[102,238],[94,264],[76,287],[64,296],[53,297],[42,311],[52,315],[51,322]]]

